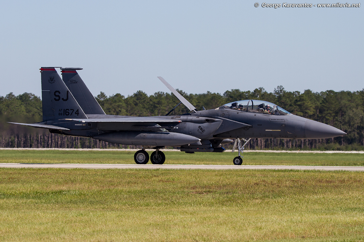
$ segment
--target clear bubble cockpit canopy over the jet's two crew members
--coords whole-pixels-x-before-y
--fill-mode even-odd
[[[278,107],[276,104],[261,100],[242,100],[223,105],[225,108],[244,112],[259,112],[271,115],[288,115],[290,112]]]

